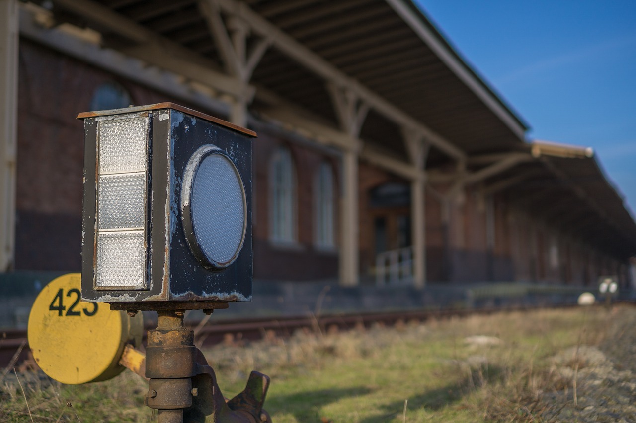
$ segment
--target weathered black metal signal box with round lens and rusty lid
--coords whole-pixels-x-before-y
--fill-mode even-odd
[[[256,133],[172,103],[78,119],[82,300],[129,310],[250,301]]]

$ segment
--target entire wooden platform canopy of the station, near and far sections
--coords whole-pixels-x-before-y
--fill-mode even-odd
[[[404,175],[418,171],[403,142],[415,131],[431,146],[431,181],[479,182],[618,257],[636,255],[636,224],[593,152],[528,142],[529,125],[410,0],[25,4],[48,14],[36,25],[81,28],[100,47],[323,144],[350,149],[357,138],[361,158],[395,160]],[[23,21],[23,36],[37,37]],[[436,174],[454,163],[464,164],[459,173]]]

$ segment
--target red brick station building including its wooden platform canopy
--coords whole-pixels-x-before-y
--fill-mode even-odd
[[[78,112],[255,130],[254,278],[629,283],[591,149],[529,126],[409,0],[0,0],[0,271],[79,271]]]

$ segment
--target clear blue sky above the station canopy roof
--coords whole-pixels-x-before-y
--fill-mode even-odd
[[[636,1],[416,3],[530,125],[527,138],[593,147],[636,211]]]

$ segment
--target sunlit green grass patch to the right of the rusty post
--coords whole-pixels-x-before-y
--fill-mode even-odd
[[[540,394],[561,387],[549,358],[579,342],[596,344],[604,321],[600,309],[513,312],[298,335],[265,355],[244,349],[231,358],[231,349],[219,347],[208,356],[226,395],[242,389],[232,360],[269,373],[266,408],[275,422],[532,421],[550,406],[537,403]],[[470,335],[503,344],[469,346]]]

